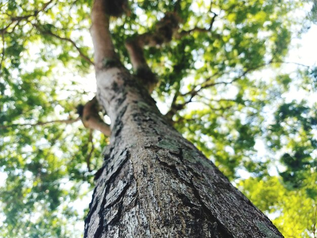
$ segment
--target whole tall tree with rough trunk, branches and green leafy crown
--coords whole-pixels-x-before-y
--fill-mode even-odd
[[[85,237],[282,237],[180,132],[229,179],[242,167],[259,182],[268,176],[268,161],[251,160],[255,137],[267,135],[272,150],[283,149],[283,141],[274,138],[294,134],[282,121],[295,118],[303,143],[296,145],[297,153],[281,157],[286,166],[281,178],[290,189],[305,186],[303,193],[313,196],[315,187],[306,186],[303,178],[316,167],[311,157],[315,117],[304,102],[276,98],[288,90],[288,75],[261,81],[256,73],[283,64],[291,25],[297,22],[289,13],[300,5],[3,2],[0,118],[6,136],[0,145],[6,151],[1,166],[8,174],[1,192],[3,234],[21,234],[27,227],[29,236],[71,236],[60,213],[73,214],[63,205],[78,195],[80,181],[92,183],[93,170],[96,188]],[[85,46],[90,11],[94,60]],[[60,62],[80,74],[94,66],[96,97],[83,103],[86,92],[71,91],[80,89],[76,82],[48,80],[60,76]],[[165,115],[153,98],[170,98]],[[261,113],[270,104],[278,104],[277,123],[264,129]],[[69,124],[80,129],[65,127]],[[304,143],[307,136],[311,140]],[[96,160],[101,153],[103,162]],[[61,186],[65,178],[72,188]],[[252,195],[250,184],[251,179],[240,183]],[[20,221],[25,226],[16,227]],[[48,231],[50,226],[56,228]]]

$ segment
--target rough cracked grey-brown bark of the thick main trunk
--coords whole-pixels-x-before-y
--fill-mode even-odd
[[[103,63],[114,51],[102,36],[108,29],[92,20],[95,51],[101,48],[97,98],[111,119],[111,137],[84,237],[283,237],[170,125],[137,77]]]

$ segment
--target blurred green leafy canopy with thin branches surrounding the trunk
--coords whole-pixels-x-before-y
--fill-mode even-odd
[[[83,233],[111,123],[93,101],[91,6],[0,1],[0,236]],[[317,235],[317,68],[285,60],[315,9],[133,0],[110,24],[131,73],[155,74],[152,97],[175,128],[286,237]],[[139,70],[128,53],[136,42],[146,59]],[[102,128],[85,117],[91,108]]]

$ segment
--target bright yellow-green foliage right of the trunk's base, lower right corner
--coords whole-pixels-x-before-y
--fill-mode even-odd
[[[313,237],[317,223],[316,201],[302,189],[290,191],[278,177],[249,178],[239,188],[278,227],[285,237]]]

